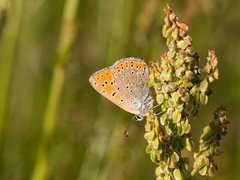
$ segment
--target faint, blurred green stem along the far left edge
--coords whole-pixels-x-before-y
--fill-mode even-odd
[[[24,14],[25,0],[20,0],[17,5],[8,3],[8,21],[4,27],[1,52],[0,52],[0,170],[2,166],[4,134],[6,131],[7,106],[9,86],[11,81],[12,65],[17,51],[19,34]]]

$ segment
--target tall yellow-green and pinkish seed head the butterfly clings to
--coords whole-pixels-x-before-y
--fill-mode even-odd
[[[157,179],[186,179],[188,158],[182,156],[182,150],[193,149],[190,120],[208,102],[209,84],[218,79],[218,59],[209,51],[206,65],[201,67],[187,35],[188,26],[179,22],[169,6],[165,13],[162,33],[168,51],[151,63],[149,83],[155,89],[160,116],[148,112],[144,137],[146,152],[157,164]]]

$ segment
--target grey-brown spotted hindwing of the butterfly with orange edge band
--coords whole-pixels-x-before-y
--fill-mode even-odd
[[[127,109],[134,114],[145,115],[142,106],[149,96],[149,70],[146,63],[136,58],[125,58],[117,61],[112,69],[116,85],[121,89],[119,94]]]

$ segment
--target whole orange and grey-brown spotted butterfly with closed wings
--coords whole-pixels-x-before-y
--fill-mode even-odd
[[[93,88],[127,112],[141,120],[153,106],[148,86],[149,69],[137,58],[124,58],[89,79]]]

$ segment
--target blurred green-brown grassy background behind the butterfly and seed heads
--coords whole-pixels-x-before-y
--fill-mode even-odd
[[[226,106],[231,124],[213,179],[239,179],[240,1],[226,0],[0,0],[0,179],[41,179],[41,162],[46,179],[155,178],[144,121],[126,140],[132,115],[88,79],[123,57],[159,59],[166,3],[189,25],[202,62],[208,49],[218,55],[220,79],[192,136],[197,144],[212,112]]]

